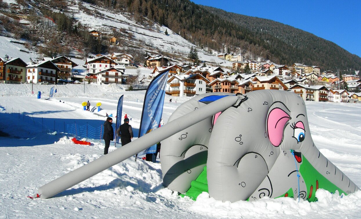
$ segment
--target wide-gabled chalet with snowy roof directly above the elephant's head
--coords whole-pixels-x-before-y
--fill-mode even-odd
[[[277,76],[256,76],[252,90],[287,90],[288,87]]]

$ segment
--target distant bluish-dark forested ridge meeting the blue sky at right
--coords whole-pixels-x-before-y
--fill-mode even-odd
[[[208,6],[201,7],[252,31],[269,42],[274,50],[282,51],[287,61],[317,65],[322,69],[361,69],[360,57],[314,34],[264,18],[244,16]]]

